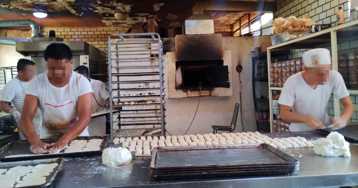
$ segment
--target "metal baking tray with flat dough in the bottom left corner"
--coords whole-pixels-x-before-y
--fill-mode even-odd
[[[51,164],[51,163],[57,163],[58,166],[50,173],[49,176],[46,177],[46,183],[42,185],[34,185],[34,186],[27,186],[22,188],[43,188],[49,186],[52,181],[55,179],[58,171],[61,169],[62,164],[64,162],[64,158],[53,158],[53,159],[37,159],[37,160],[24,160],[24,161],[18,161],[18,162],[6,162],[6,163],[0,163],[0,168],[13,168],[16,166],[36,166],[38,164]]]

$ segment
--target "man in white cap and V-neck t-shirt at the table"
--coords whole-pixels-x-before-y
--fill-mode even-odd
[[[342,75],[332,70],[329,50],[308,50],[302,58],[304,71],[289,77],[282,89],[278,101],[280,118],[291,122],[290,131],[322,129],[323,124],[330,123],[326,107],[334,93],[343,105],[343,112],[332,123],[335,128],[344,127],[353,115],[354,106]]]

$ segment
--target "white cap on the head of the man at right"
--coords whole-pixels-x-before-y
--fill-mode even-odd
[[[316,48],[303,53],[302,60],[304,66],[316,67],[318,65],[332,64],[331,54],[328,49]]]

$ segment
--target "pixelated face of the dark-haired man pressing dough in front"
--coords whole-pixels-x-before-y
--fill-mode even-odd
[[[73,59],[51,59],[46,62],[45,72],[50,81],[65,81],[72,72]]]

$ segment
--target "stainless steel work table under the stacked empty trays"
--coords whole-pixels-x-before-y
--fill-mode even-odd
[[[271,138],[302,136],[308,140],[325,137],[319,131],[272,133]],[[113,146],[110,144],[110,146]],[[118,146],[118,145],[116,145]],[[117,188],[117,187],[245,187],[245,188],[309,188],[358,185],[358,145],[351,144],[351,158],[315,155],[313,148],[293,148],[303,156],[294,174],[247,177],[154,180],[148,173],[149,157],[133,157],[121,168],[105,167],[101,156],[68,158],[49,187],[53,188]],[[223,156],[223,160],[225,156]]]

